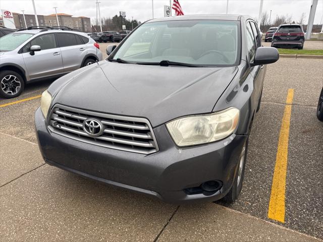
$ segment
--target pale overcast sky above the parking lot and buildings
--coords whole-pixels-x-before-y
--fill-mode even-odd
[[[36,12],[39,15],[55,13],[71,14],[74,17],[86,16],[95,19],[95,0],[34,0]],[[169,0],[99,0],[101,17],[113,17],[119,11],[126,12],[127,19],[137,19],[141,22],[152,18],[152,2],[154,18],[164,17],[164,5],[169,5]],[[173,1],[172,1],[173,2]],[[227,0],[179,0],[184,14],[225,14]],[[262,12],[268,15],[272,10],[271,21],[277,15],[290,15],[297,22],[302,13],[306,14],[305,24],[308,21],[312,0],[264,0]],[[229,14],[249,15],[257,18],[260,0],[229,0]],[[12,12],[33,14],[31,0],[1,0],[0,8]],[[173,12],[174,13],[174,12]],[[321,24],[323,16],[323,0],[318,0],[314,24]]]

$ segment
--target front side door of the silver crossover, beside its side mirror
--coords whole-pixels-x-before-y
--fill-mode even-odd
[[[39,45],[40,51],[30,54],[30,47]],[[30,79],[59,75],[63,73],[61,49],[55,33],[46,33],[32,39],[22,48],[22,56]]]

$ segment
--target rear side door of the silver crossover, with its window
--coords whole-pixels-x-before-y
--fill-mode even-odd
[[[57,33],[62,51],[64,73],[79,69],[87,54],[86,45],[78,34]]]

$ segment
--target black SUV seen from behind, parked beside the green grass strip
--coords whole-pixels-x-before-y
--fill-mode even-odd
[[[301,24],[282,24],[273,36],[272,47],[303,49],[304,41],[304,31]]]

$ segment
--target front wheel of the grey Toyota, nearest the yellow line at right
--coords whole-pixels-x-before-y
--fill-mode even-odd
[[[244,146],[242,148],[236,176],[233,180],[233,185],[232,185],[229,193],[223,198],[223,200],[226,203],[234,203],[237,200],[237,198],[241,192],[243,177],[244,177],[244,169],[245,169],[246,160],[247,160],[248,140],[249,140],[249,138],[247,138],[246,143],[244,144]],[[241,158],[243,159],[242,161],[241,161]],[[239,182],[238,182],[238,178],[239,178]]]

